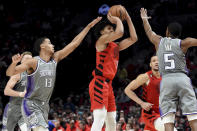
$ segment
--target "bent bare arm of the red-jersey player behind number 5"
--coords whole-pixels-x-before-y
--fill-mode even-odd
[[[137,89],[138,87],[146,84],[146,82],[149,80],[148,75],[145,74],[141,74],[139,75],[135,80],[133,80],[126,88],[125,88],[125,94],[131,98],[133,101],[135,101],[136,103],[138,103],[144,110],[149,111],[152,108],[151,103],[148,102],[144,102],[143,100],[141,100],[134,92],[135,89]]]

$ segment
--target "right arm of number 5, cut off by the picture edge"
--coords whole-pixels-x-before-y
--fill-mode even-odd
[[[180,44],[181,44],[181,49],[183,50],[184,53],[186,53],[188,48],[192,46],[197,46],[197,39],[188,37],[182,40]]]

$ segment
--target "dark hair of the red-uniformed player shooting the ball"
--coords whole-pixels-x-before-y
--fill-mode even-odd
[[[96,37],[96,39],[98,39],[101,36],[100,31],[103,30],[107,25],[110,25],[113,28],[115,28],[115,25],[112,24],[107,18],[99,21],[99,23],[96,24],[94,29],[94,36]]]

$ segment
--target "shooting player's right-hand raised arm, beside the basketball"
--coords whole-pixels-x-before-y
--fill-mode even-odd
[[[120,51],[124,50],[124,49],[127,49],[129,46],[134,44],[138,39],[136,31],[135,31],[135,27],[133,26],[133,22],[131,20],[131,17],[129,16],[128,12],[126,12],[126,21],[127,21],[128,27],[129,27],[130,37],[122,40],[119,43],[119,50]]]

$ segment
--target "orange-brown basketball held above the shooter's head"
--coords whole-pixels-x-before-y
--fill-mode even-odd
[[[119,17],[122,21],[126,18],[126,9],[121,5],[112,6],[108,13],[111,13],[112,16]]]

